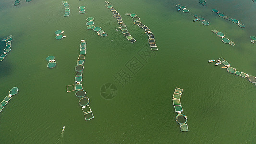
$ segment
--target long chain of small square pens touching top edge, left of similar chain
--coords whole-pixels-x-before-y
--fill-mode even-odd
[[[114,14],[113,17],[117,19],[118,24],[120,25],[120,27],[116,28],[117,31],[121,31],[123,35],[131,42],[134,43],[136,42],[136,40],[134,39],[133,36],[131,36],[131,34],[128,32],[126,25],[123,23],[122,21],[122,17],[121,15],[116,11],[116,9],[114,8],[114,6],[112,6],[111,3],[109,3],[108,1],[105,1],[106,3],[106,8],[110,9],[110,11]]]

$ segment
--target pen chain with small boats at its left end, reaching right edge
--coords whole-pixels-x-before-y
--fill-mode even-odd
[[[254,83],[256,86],[256,77],[255,76],[246,74],[244,72],[237,71],[236,68],[231,67],[230,64],[223,58],[219,58],[216,62],[223,64],[224,67],[222,67],[222,68],[226,68],[229,73],[241,76],[243,78],[247,78],[250,82]]]

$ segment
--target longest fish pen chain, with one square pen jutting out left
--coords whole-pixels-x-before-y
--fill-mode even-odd
[[[85,54],[86,54],[86,42],[85,40],[81,40],[80,48],[79,48],[79,56],[77,59],[77,63],[75,66],[75,80],[76,84],[68,85],[67,92],[75,92],[75,96],[80,98],[78,104],[81,106],[83,114],[85,116],[85,120],[91,120],[94,118],[92,110],[89,106],[90,99],[86,97],[86,92],[83,90],[83,85],[80,84],[83,80],[83,70],[84,70],[84,62],[85,62]]]

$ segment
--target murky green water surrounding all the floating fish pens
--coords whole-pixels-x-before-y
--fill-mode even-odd
[[[256,86],[208,60],[223,57],[240,72],[256,76],[256,2],[252,0],[111,0],[136,42],[130,43],[104,0],[0,1],[0,38],[12,35],[12,50],[0,62],[0,101],[12,96],[0,113],[0,144],[55,144],[65,125],[65,144],[254,144]],[[177,12],[176,4],[190,10]],[[85,5],[85,14],[79,6]],[[245,28],[212,9],[239,20]],[[135,13],[155,35],[152,52]],[[194,14],[210,23],[193,22]],[[108,36],[86,29],[86,18]],[[66,35],[55,39],[54,32]],[[235,42],[225,44],[216,29]],[[80,40],[85,39],[83,89],[94,119],[85,121],[74,84]],[[0,53],[5,42],[0,41]],[[56,67],[47,68],[47,56]],[[102,86],[107,86],[105,91]],[[109,85],[112,85],[108,88]],[[116,88],[115,88],[116,87]],[[172,104],[175,87],[183,89],[182,114],[189,131],[181,132]],[[115,91],[117,89],[117,93]],[[113,95],[105,95],[110,94]]]

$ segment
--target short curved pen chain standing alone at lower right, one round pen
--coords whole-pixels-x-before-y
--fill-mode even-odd
[[[174,94],[172,96],[172,103],[175,109],[175,112],[178,113],[178,115],[175,117],[175,120],[177,123],[180,124],[181,131],[188,131],[188,125],[187,123],[187,116],[182,114],[182,105],[181,105],[181,95],[182,95],[183,89],[176,87]]]

